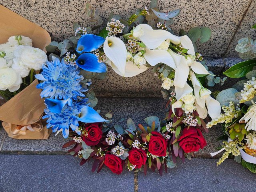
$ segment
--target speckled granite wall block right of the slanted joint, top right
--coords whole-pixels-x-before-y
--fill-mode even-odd
[[[236,32],[234,39],[232,40],[225,57],[238,57],[238,52],[236,52],[235,48],[237,45],[237,41],[240,38],[251,37],[252,39],[256,39],[256,30],[251,27],[256,24],[256,0],[252,0],[248,11],[246,12],[238,31]]]

